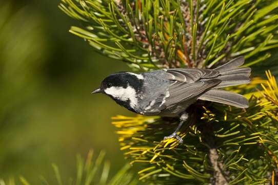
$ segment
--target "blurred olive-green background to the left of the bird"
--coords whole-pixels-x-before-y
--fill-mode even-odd
[[[110,117],[130,115],[103,95],[101,80],[128,70],[70,34],[80,26],[58,0],[0,1],[0,177],[38,184],[75,176],[75,156],[104,149],[112,173],[125,163]],[[63,178],[62,177],[62,178]]]

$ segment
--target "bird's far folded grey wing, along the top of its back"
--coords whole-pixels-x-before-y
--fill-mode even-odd
[[[179,82],[193,83],[200,79],[214,78],[220,75],[220,72],[214,69],[197,68],[174,68],[165,69],[166,78]]]

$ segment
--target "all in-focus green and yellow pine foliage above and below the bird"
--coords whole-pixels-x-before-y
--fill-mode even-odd
[[[62,0],[59,8],[83,24],[71,33],[134,71],[214,68],[239,55],[253,74],[277,63],[271,53],[278,47],[278,1]],[[192,106],[179,133],[183,144],[163,140],[176,119],[114,117],[121,150],[142,168],[138,178],[153,184],[277,183],[278,88],[270,71],[266,76],[228,89],[249,98],[247,109]]]

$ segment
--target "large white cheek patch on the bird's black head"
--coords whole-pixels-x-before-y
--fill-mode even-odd
[[[136,91],[131,86],[124,87],[110,87],[106,88],[105,93],[111,95],[112,97],[121,101],[130,101],[130,106],[135,108],[137,106],[138,100],[136,98]]]

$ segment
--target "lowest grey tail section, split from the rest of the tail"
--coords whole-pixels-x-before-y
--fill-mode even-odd
[[[239,108],[247,108],[249,106],[248,101],[244,96],[236,93],[232,93],[230,91],[219,90],[219,89],[209,90],[198,99],[223,103],[223,104],[227,104]]]

